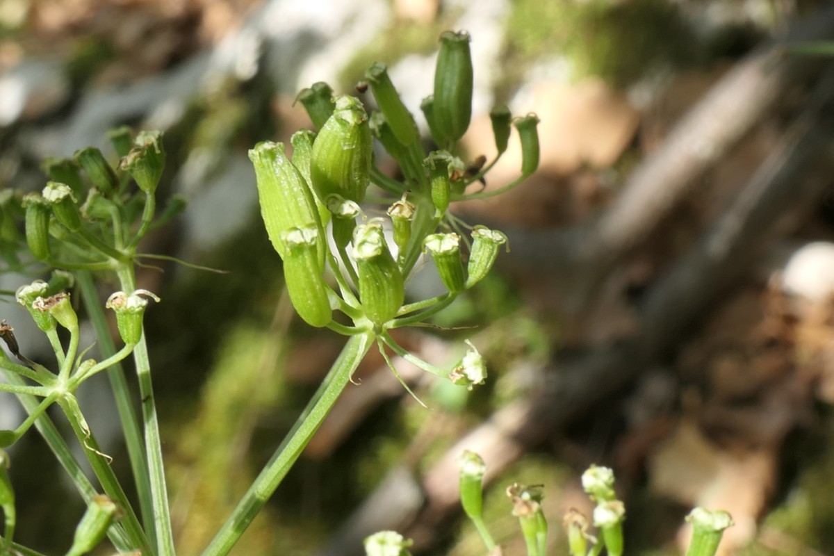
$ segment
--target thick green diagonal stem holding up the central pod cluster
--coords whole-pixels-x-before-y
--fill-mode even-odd
[[[244,494],[238,507],[234,509],[232,515],[203,551],[203,556],[220,556],[229,553],[234,543],[237,543],[260,509],[264,507],[264,503],[278,488],[289,472],[289,468],[293,466],[309,443],[310,438],[313,438],[313,434],[333,408],[339,394],[342,393],[354,370],[359,366],[359,362],[373,344],[372,333],[358,334],[348,340],[339,358],[324,378],[324,382],[304,409],[304,413],[295,422],[292,430],[284,438],[284,442],[280,444],[269,459],[269,463]]]

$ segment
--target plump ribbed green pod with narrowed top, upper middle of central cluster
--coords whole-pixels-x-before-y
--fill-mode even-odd
[[[337,193],[361,203],[373,157],[368,115],[358,98],[336,98],[336,108],[313,143],[312,186],[320,199]]]

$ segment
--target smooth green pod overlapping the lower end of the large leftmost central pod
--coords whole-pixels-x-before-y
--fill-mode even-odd
[[[290,228],[281,234],[287,246],[284,283],[293,307],[310,326],[321,328],[332,319],[328,286],[316,253],[319,229],[314,226]]]

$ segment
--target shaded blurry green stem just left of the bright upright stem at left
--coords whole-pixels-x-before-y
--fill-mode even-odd
[[[93,278],[87,272],[76,273],[75,278],[78,287],[81,289],[84,307],[93,323],[98,338],[98,349],[103,358],[110,358],[116,353],[116,346],[110,336],[107,318],[104,316],[103,304],[98,298]],[[156,544],[156,532],[151,527],[153,523],[153,497],[151,496],[150,473],[148,473],[148,462],[145,458],[145,447],[142,441],[142,432],[139,428],[136,410],[131,400],[128,381],[124,376],[124,370],[120,363],[116,363],[107,369],[110,388],[113,389],[116,409],[119,422],[122,425],[124,442],[128,448],[130,468],[133,471],[133,480],[136,483],[136,492],[139,498],[139,509],[142,513],[142,522],[148,531],[148,538],[151,543]]]

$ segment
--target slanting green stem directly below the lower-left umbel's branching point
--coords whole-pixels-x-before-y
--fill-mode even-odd
[[[84,420],[81,408],[78,407],[78,401],[72,394],[67,394],[58,399],[58,405],[63,409],[63,413],[67,416],[69,424],[73,428],[73,433],[83,446],[84,454],[93,468],[93,473],[101,483],[104,493],[115,503],[118,503],[119,508],[121,508],[123,514],[121,522],[130,538],[131,548],[141,548],[143,553],[153,554],[148,544],[148,538],[145,537],[142,530],[142,525],[136,518],[136,513],[133,513],[133,507],[130,505],[128,496],[118,482],[116,473],[113,473],[113,468],[110,467],[110,458],[98,446],[98,442],[93,437],[93,432]]]

